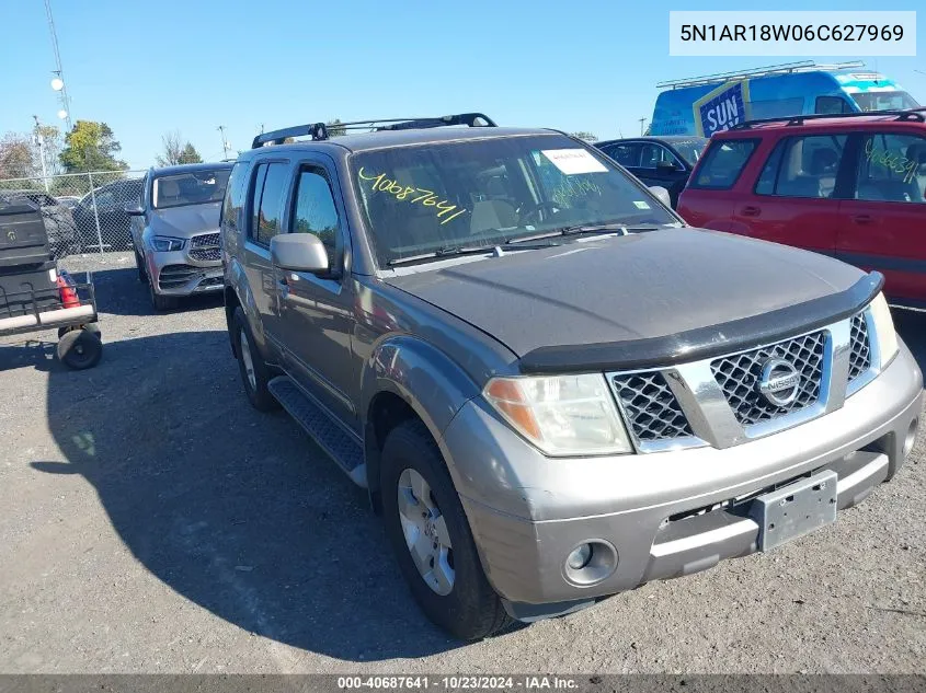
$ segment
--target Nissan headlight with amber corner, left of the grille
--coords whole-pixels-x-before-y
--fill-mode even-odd
[[[601,373],[493,378],[482,394],[515,430],[549,455],[632,451]]]

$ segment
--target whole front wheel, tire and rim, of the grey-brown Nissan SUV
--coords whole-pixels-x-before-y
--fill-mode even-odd
[[[427,428],[397,426],[381,460],[386,533],[422,611],[464,640],[511,622],[482,571],[460,498]]]

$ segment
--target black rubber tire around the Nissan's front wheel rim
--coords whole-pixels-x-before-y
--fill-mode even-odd
[[[409,475],[405,475],[405,473]],[[443,518],[446,535],[451,548],[446,552],[439,541],[442,531],[434,534],[419,532],[426,545],[437,543],[442,564],[453,567],[453,580],[449,591],[446,576],[444,579],[432,578],[432,585],[419,570],[412,550],[407,542],[403,529],[403,516],[399,509],[401,493],[408,494],[407,482],[418,473],[430,486],[430,496],[436,506],[437,515],[431,510],[431,517]],[[462,640],[478,640],[498,633],[511,623],[511,617],[502,607],[502,601],[489,585],[482,564],[476,551],[476,543],[469,529],[459,495],[441,455],[441,451],[427,428],[420,420],[408,420],[396,428],[386,438],[380,463],[384,521],[386,534],[392,544],[399,568],[412,591],[412,596],[431,621]],[[413,488],[413,487],[412,487]],[[421,499],[414,499],[421,504]],[[426,505],[426,501],[425,501]],[[405,506],[415,507],[415,504]],[[426,510],[422,506],[423,510]],[[432,527],[436,527],[432,525]],[[434,536],[434,540],[428,539]],[[425,546],[426,548],[426,546]],[[432,556],[433,558],[433,556]],[[435,564],[430,563],[431,566]],[[431,574],[436,573],[432,569]]]

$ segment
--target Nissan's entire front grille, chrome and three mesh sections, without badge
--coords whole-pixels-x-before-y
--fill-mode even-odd
[[[756,368],[784,357],[801,373],[787,407],[758,402]],[[771,344],[664,368],[606,373],[637,452],[729,448],[843,406],[880,372],[869,309]],[[753,394],[755,396],[753,396]]]

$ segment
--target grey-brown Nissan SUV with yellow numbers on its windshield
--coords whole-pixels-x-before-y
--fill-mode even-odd
[[[236,163],[231,348],[453,634],[771,550],[903,464],[923,380],[880,275],[688,228],[558,131],[343,127]]]

